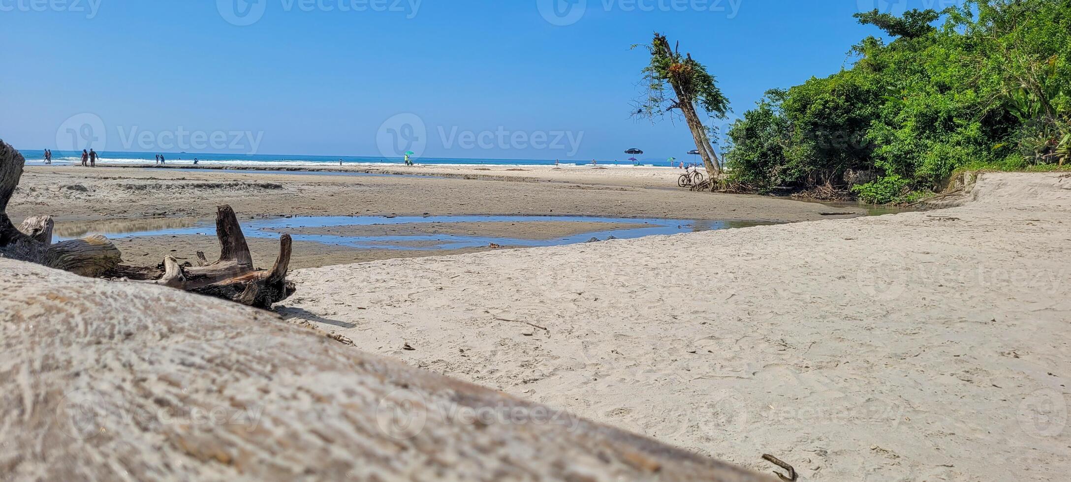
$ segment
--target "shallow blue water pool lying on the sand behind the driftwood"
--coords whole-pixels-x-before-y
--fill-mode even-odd
[[[521,225],[516,230],[539,234],[539,223],[575,223],[580,232],[573,232],[565,236],[553,237],[549,239],[530,239],[514,236],[481,236],[468,234],[419,232],[420,226],[441,227],[456,226],[458,230],[469,229],[467,226],[477,226],[477,223],[514,223]],[[457,250],[465,247],[481,247],[489,244],[501,246],[556,246],[564,244],[576,244],[590,241],[592,238],[606,240],[610,237],[618,239],[633,239],[645,236],[677,235],[682,232],[709,231],[718,229],[730,229],[749,226],[768,225],[771,223],[759,222],[734,222],[734,221],[684,221],[684,220],[661,220],[661,219],[630,219],[630,217],[593,217],[593,216],[496,216],[496,215],[464,215],[464,216],[306,216],[306,217],[278,217],[270,220],[254,220],[242,222],[242,230],[246,238],[278,238],[281,234],[289,234],[295,241],[312,241],[323,244],[349,246],[355,248],[368,250],[399,250],[399,251],[437,251]],[[605,225],[600,227],[599,225]],[[620,227],[627,225],[625,227]],[[115,225],[112,225],[115,226]],[[112,226],[102,226],[94,232],[101,232],[109,238],[139,238],[159,236],[214,236],[215,225],[210,222],[200,222],[193,226],[156,228],[136,228],[133,224],[124,225],[130,229],[109,229]],[[316,231],[317,228],[347,227],[361,230],[361,227],[375,228],[379,231],[389,231],[391,227],[406,227],[405,235],[390,235],[379,232],[376,235],[336,235]],[[416,228],[414,228],[416,227]],[[523,229],[522,229],[523,228]],[[594,228],[588,230],[587,228]],[[513,229],[506,227],[507,230]],[[66,231],[73,232],[77,229],[70,228]],[[303,232],[305,230],[306,232]],[[500,230],[500,229],[499,229]],[[110,232],[109,232],[110,231]],[[576,229],[573,229],[576,231]],[[531,238],[543,238],[532,236]]]

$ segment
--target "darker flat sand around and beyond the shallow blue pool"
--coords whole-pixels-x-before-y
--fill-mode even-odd
[[[188,167],[188,166],[185,166]],[[421,176],[337,176],[334,172],[276,174],[138,167],[30,166],[26,168],[9,214],[18,220],[51,214],[57,236],[121,234],[181,228],[211,222],[217,205],[228,204],[240,219],[311,215],[588,215],[629,219],[676,219],[785,223],[862,215],[859,207],[836,207],[787,199],[691,193],[674,187],[679,169],[617,167],[461,168],[417,166],[394,169]],[[489,170],[478,170],[489,169]],[[367,168],[350,169],[369,170]],[[392,170],[380,169],[379,175]],[[473,179],[465,179],[470,177]],[[847,213],[828,215],[830,213]],[[826,214],[826,215],[824,215]],[[472,232],[522,239],[547,239],[584,232],[584,223],[555,226],[517,223],[454,226]],[[433,225],[408,235],[447,232]],[[421,230],[423,229],[423,230]],[[129,262],[165,255],[194,259],[197,251],[215,251],[211,229],[203,236],[123,239]],[[272,243],[252,242],[258,260],[274,257]],[[172,251],[174,250],[174,251]],[[392,257],[457,254],[463,251],[353,250],[317,243],[296,244],[295,267],[362,262]]]

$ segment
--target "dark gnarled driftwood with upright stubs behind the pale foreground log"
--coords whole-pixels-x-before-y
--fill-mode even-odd
[[[172,257],[154,267],[121,265],[121,253],[107,238],[93,235],[84,239],[52,243],[50,216],[32,216],[16,228],[7,217],[7,202],[22,176],[26,160],[11,145],[0,140],[0,257],[44,265],[90,277],[154,283],[236,301],[250,306],[270,308],[295,291],[286,280],[292,242],[289,235],[280,240],[278,258],[271,270],[257,270],[242,227],[229,206],[216,213],[220,259],[207,262],[198,253],[198,266],[183,266]]]

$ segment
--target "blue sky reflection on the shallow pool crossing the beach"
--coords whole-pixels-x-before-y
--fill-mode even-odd
[[[172,222],[174,225],[153,225],[153,222]],[[532,240],[523,238],[503,238],[485,236],[463,236],[463,235],[414,235],[414,236],[332,236],[332,235],[303,235],[293,232],[302,228],[317,227],[338,227],[338,226],[374,226],[374,225],[397,225],[397,224],[428,224],[428,223],[479,223],[479,222],[511,222],[511,223],[541,223],[541,222],[574,222],[574,223],[629,223],[643,224],[642,227],[606,229],[583,232],[563,238],[548,240]],[[401,250],[401,251],[434,251],[434,250],[457,250],[464,247],[486,246],[491,243],[503,246],[555,246],[563,244],[575,244],[589,241],[591,238],[605,240],[614,237],[618,239],[633,239],[645,236],[677,235],[681,232],[697,232],[718,229],[730,229],[769,225],[774,223],[759,222],[737,222],[737,221],[682,221],[663,219],[631,219],[631,217],[592,217],[592,216],[495,216],[495,215],[468,215],[468,216],[404,216],[404,217],[380,217],[380,216],[308,216],[308,217],[285,217],[271,220],[255,220],[242,223],[242,229],[247,238],[278,238],[281,232],[289,232],[295,241],[313,241],[323,244],[334,244],[356,248],[379,248],[379,250]],[[292,230],[292,231],[291,231]],[[190,236],[190,235],[212,235],[215,226],[212,222],[197,220],[144,220],[129,222],[102,222],[92,227],[82,226],[80,229],[65,231],[61,237],[77,237],[86,232],[100,232],[110,238],[135,238],[152,236]],[[66,234],[73,232],[73,234]]]

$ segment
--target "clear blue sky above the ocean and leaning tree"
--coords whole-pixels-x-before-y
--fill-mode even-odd
[[[544,0],[423,0],[417,9],[417,0],[47,1],[0,0],[0,138],[20,149],[55,148],[65,120],[90,112],[105,124],[107,150],[141,150],[125,149],[122,130],[181,126],[262,133],[262,154],[378,155],[383,122],[411,112],[427,129],[425,156],[570,159],[568,137],[560,148],[443,142],[451,132],[504,131],[547,133],[553,144],[568,132],[577,160],[623,159],[630,147],[647,159],[683,157],[694,148],[682,122],[630,118],[647,56],[629,47],[655,30],[707,64],[740,115],[767,89],[836,72],[853,44],[878,33],[855,24],[860,5],[902,7],[554,0],[564,16],[548,21]],[[653,11],[629,11],[637,1]],[[229,13],[236,2],[253,16]],[[258,5],[252,25],[227,19],[247,21]],[[585,5],[575,22],[554,25]]]

